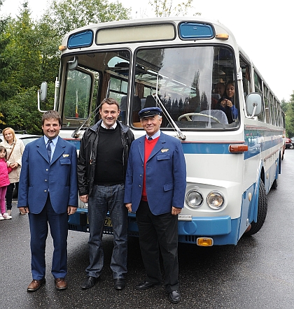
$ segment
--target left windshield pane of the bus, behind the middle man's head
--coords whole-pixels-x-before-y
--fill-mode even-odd
[[[71,66],[75,59],[75,66]],[[59,101],[63,127],[89,126],[99,120],[97,107],[111,97],[124,115],[130,75],[130,51],[92,52],[62,58]],[[95,110],[95,113],[93,113]],[[121,121],[125,122],[122,116]]]

